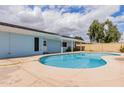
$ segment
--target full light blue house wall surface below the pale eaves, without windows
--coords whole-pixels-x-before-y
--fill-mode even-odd
[[[28,56],[33,54],[42,54],[43,52],[61,52],[61,40],[47,40],[46,51],[43,47],[43,37],[39,37],[39,51],[34,51],[33,35],[17,34],[13,32],[0,32],[0,58]],[[67,40],[67,47],[64,47],[64,52],[71,46],[71,41]]]

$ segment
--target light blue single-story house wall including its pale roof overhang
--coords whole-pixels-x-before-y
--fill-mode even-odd
[[[69,46],[72,47],[72,41],[75,41],[54,33],[9,25],[0,25],[0,58],[65,52]],[[39,38],[38,51],[35,50],[35,38]],[[44,40],[47,46],[44,46]],[[62,42],[67,42],[67,47],[62,48]]]

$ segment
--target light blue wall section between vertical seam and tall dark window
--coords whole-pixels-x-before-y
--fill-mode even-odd
[[[42,53],[42,50],[34,51],[34,36],[11,34],[11,53],[11,56],[25,56]]]

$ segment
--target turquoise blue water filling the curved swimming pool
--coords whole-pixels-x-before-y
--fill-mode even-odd
[[[77,53],[53,55],[40,58],[40,63],[62,68],[96,68],[106,64],[101,56],[117,56],[111,53]]]

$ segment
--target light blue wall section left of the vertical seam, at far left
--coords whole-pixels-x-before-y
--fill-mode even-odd
[[[10,34],[0,32],[0,58],[8,57],[10,51]]]

